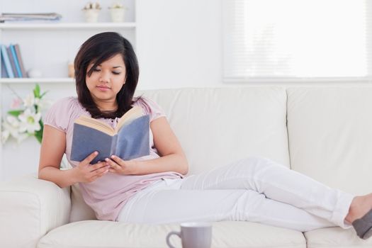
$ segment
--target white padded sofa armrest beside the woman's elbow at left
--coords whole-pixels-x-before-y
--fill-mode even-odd
[[[70,188],[35,175],[0,183],[0,247],[33,247],[69,222]]]

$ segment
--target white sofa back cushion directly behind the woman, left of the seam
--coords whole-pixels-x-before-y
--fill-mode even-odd
[[[286,91],[280,87],[141,91],[159,104],[184,148],[190,174],[247,156],[289,167]],[[213,156],[210,156],[213,154]]]

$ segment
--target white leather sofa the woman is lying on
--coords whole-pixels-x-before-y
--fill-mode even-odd
[[[250,86],[144,91],[164,108],[190,174],[262,156],[351,193],[372,192],[372,87]],[[156,211],[156,210],[155,210]],[[25,176],[0,184],[0,247],[167,247],[179,225],[94,220],[79,188]],[[178,239],[174,243],[181,247]],[[353,229],[297,232],[213,223],[212,247],[372,247]]]

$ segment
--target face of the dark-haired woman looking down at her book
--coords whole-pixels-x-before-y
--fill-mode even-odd
[[[89,64],[86,72],[89,72],[93,64]],[[85,81],[95,103],[113,102],[125,84],[125,77],[124,60],[122,55],[118,54],[98,64],[90,77],[86,74]]]

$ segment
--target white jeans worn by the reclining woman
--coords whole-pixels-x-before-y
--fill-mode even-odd
[[[240,220],[301,232],[344,222],[352,196],[259,157],[157,181],[130,198],[118,221],[163,224]]]

